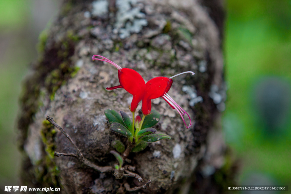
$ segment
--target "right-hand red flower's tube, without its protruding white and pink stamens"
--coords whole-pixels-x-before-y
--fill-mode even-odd
[[[143,97],[142,112],[147,115],[151,111],[151,99],[159,98],[168,92],[173,80],[167,77],[155,77],[145,84],[145,95]]]

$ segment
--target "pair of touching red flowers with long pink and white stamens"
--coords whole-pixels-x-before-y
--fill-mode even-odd
[[[101,58],[95,58],[101,57]],[[92,60],[101,60],[108,62],[114,65],[118,69],[118,79],[119,79],[119,86],[114,86],[111,88],[106,88],[107,90],[113,90],[116,88],[124,88],[127,92],[133,95],[133,99],[131,102],[130,110],[134,112],[137,108],[138,103],[142,100],[142,112],[144,115],[150,114],[152,108],[152,99],[162,97],[173,109],[176,109],[180,114],[184,124],[187,128],[191,126],[191,119],[190,116],[186,111],[184,111],[181,106],[179,106],[168,94],[167,92],[170,90],[173,80],[171,78],[178,76],[184,73],[192,73],[194,72],[183,72],[172,76],[170,78],[167,77],[155,77],[148,81],[147,83],[144,82],[141,75],[128,68],[121,68],[116,63],[113,63],[111,60],[100,56],[100,55],[93,55]],[[183,116],[187,114],[190,120],[189,126],[185,123]]]

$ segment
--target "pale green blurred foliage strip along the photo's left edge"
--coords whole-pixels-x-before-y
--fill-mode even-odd
[[[20,82],[33,56],[33,46],[25,38],[30,2],[0,1],[0,193],[4,186],[18,181],[21,160],[15,121]]]

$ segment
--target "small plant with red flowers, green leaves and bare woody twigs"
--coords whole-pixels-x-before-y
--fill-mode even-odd
[[[183,72],[170,78],[156,77],[145,83],[141,75],[135,70],[121,68],[119,65],[113,63],[111,60],[103,56],[93,55],[92,60],[108,62],[118,69],[118,79],[120,85],[106,88],[107,90],[124,88],[127,92],[133,95],[131,105],[129,106],[129,110],[132,112],[132,119],[123,111],[119,111],[120,114],[112,109],[107,109],[104,111],[110,123],[110,130],[128,138],[127,147],[125,149],[125,145],[120,140],[113,141],[112,147],[114,147],[117,152],[115,150],[111,150],[110,153],[116,157],[118,163],[115,164],[114,167],[98,166],[91,161],[88,161],[83,156],[80,149],[73,142],[72,138],[70,138],[70,136],[66,133],[66,131],[63,130],[58,124],[56,124],[53,118],[47,116],[47,120],[68,138],[68,140],[72,143],[77,151],[77,154],[54,152],[54,155],[75,157],[85,165],[88,165],[99,172],[114,172],[113,175],[116,177],[116,179],[122,179],[123,177],[135,177],[138,179],[138,181],[141,182],[143,179],[138,174],[132,172],[135,171],[135,167],[125,164],[125,162],[131,163],[131,161],[127,159],[129,153],[142,151],[148,146],[148,143],[156,142],[162,139],[171,139],[171,137],[166,134],[156,133],[157,130],[152,128],[159,122],[160,114],[157,111],[151,109],[151,100],[159,97],[163,98],[171,106],[171,108],[178,111],[184,124],[186,125],[186,128],[189,128],[191,126],[190,116],[167,94],[167,92],[172,86],[173,77],[184,73],[192,73],[193,75],[194,72]],[[141,110],[143,113],[142,118],[139,115],[135,117],[136,108],[141,100]],[[188,126],[183,118],[185,114],[187,114],[190,120],[190,124]],[[124,187],[127,191],[137,191],[142,188],[148,188],[150,183],[151,180],[148,180],[147,183],[142,186],[130,188],[129,184],[126,182]]]

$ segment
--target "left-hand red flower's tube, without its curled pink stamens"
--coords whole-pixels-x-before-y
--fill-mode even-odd
[[[135,111],[138,103],[144,96],[145,81],[138,72],[129,68],[118,70],[118,79],[120,85],[133,95],[130,110]]]

